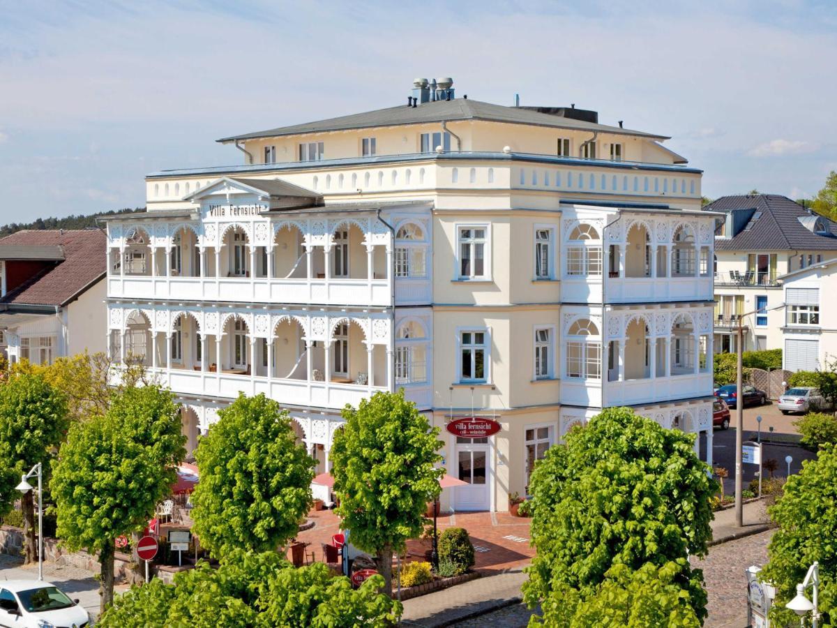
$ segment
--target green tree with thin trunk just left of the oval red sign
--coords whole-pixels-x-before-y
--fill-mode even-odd
[[[342,414],[346,425],[331,445],[337,514],[351,543],[376,556],[384,591],[391,595],[393,551],[419,537],[427,502],[441,491],[444,470],[434,465],[444,442],[403,390],[373,394]]]

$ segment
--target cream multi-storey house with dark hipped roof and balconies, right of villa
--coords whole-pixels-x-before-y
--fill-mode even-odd
[[[782,275],[837,257],[837,224],[778,194],[725,196],[705,209],[723,212],[715,232],[715,351],[784,347]],[[789,310],[788,310],[789,311]]]

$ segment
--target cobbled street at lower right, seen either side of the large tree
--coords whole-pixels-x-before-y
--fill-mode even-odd
[[[747,577],[744,569],[752,564],[764,564],[768,558],[768,543],[773,530],[753,534],[747,538],[730,541],[710,548],[706,559],[693,559],[695,567],[703,569],[708,591],[706,610],[709,617],[706,628],[744,628],[747,625]],[[516,604],[481,615],[471,620],[460,621],[460,628],[482,628],[483,626],[509,626],[522,628],[528,625],[532,610]]]

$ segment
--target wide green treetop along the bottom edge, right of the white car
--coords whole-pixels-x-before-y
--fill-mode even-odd
[[[203,480],[202,480],[203,481]],[[275,552],[234,550],[212,569],[203,561],[174,576],[134,586],[101,616],[102,628],[349,628],[393,626],[403,607],[379,594],[381,576],[359,589],[349,579],[333,577],[325,564],[295,569]]]

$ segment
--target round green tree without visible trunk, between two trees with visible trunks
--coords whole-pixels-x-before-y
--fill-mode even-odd
[[[218,417],[195,453],[193,530],[216,557],[275,550],[311,508],[315,461],[295,442],[290,415],[264,394],[239,394]]]

